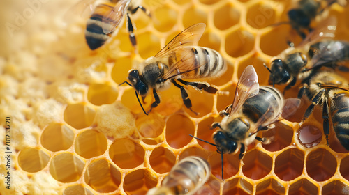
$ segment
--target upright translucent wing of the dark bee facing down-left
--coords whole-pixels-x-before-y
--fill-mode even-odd
[[[235,97],[232,102],[230,114],[241,110],[242,104],[244,104],[245,100],[248,97],[258,94],[258,91],[258,75],[255,72],[253,65],[248,65],[237,82],[237,88],[235,90]]]

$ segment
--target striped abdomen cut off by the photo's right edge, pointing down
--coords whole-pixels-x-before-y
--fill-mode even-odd
[[[346,150],[349,150],[349,95],[336,93],[332,96],[330,111],[336,137]]]

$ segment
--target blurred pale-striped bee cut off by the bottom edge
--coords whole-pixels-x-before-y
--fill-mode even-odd
[[[202,157],[189,156],[173,166],[161,187],[149,189],[147,195],[194,194],[211,175],[211,166]]]

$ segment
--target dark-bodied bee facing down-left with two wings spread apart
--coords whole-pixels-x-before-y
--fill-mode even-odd
[[[295,114],[299,104],[297,98],[284,100],[276,88],[260,87],[255,69],[248,65],[237,83],[232,104],[219,113],[223,117],[221,123],[212,124],[212,128],[218,127],[219,130],[213,134],[216,144],[209,144],[216,146],[217,152],[222,154],[222,179],[223,154],[236,154],[240,150],[239,159],[242,159],[246,146],[255,139],[269,143],[269,139],[257,137],[257,133],[272,129],[274,123]]]

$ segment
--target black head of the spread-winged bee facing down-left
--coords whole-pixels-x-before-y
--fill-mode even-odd
[[[216,147],[218,153],[230,154],[236,152],[237,142],[232,141],[232,139],[229,139],[227,135],[224,134],[222,131],[216,131],[214,133],[213,139],[214,143],[216,143],[217,145]]]

